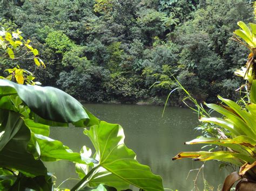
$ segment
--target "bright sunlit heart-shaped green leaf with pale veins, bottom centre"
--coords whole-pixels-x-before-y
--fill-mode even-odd
[[[113,178],[116,176],[116,180],[121,179],[126,184],[144,190],[164,189],[161,177],[154,175],[149,166],[139,164],[136,154],[125,146],[124,132],[120,125],[101,121],[99,125],[91,126],[90,130],[85,130],[84,133],[95,146],[99,166],[114,175]],[[105,183],[104,179],[101,180]],[[105,180],[109,181],[107,176]],[[112,186],[110,182],[105,184]]]

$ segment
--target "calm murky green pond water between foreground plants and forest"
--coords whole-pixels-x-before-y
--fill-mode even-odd
[[[126,104],[86,104],[98,118],[123,126],[125,144],[137,154],[137,160],[149,165],[155,174],[163,177],[164,187],[178,190],[192,190],[193,180],[202,163],[183,159],[172,161],[172,157],[181,151],[198,151],[203,145],[184,145],[185,141],[199,134],[193,129],[198,124],[197,115],[190,109],[167,108],[161,118],[163,107]],[[79,152],[83,145],[92,148],[90,140],[79,128],[51,128],[51,138],[58,139],[73,151]],[[77,178],[75,165],[69,161],[46,163],[50,172],[57,176],[57,185],[67,178]],[[227,172],[220,172],[217,162],[206,162],[204,178],[217,190]],[[198,186],[203,190],[203,173],[198,176]],[[76,180],[68,180],[61,187],[72,187]]]

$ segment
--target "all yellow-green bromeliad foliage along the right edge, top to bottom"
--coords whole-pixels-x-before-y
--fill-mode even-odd
[[[227,176],[224,181],[223,190],[230,190],[237,181],[239,182],[235,188],[236,190],[252,189],[255,187],[254,182],[256,180],[254,24],[251,24],[251,30],[243,22],[238,22],[238,26],[240,26],[242,30],[235,30],[234,34],[245,40],[247,44],[243,43],[236,36],[234,37],[234,40],[251,50],[247,59],[246,68],[242,67],[241,70],[235,72],[236,75],[243,77],[247,81],[247,83],[243,85],[246,90],[245,97],[240,98],[236,103],[232,100],[218,96],[221,103],[218,105],[205,103],[205,105],[211,109],[210,112],[206,112],[203,106],[199,105],[197,101],[190,96],[187,90],[181,86],[180,82],[176,80],[178,88],[185,91],[188,95],[188,100],[191,100],[198,109],[199,121],[202,122],[203,125],[200,125],[197,129],[206,132],[204,136],[186,142],[185,144],[217,146],[211,148],[209,151],[180,152],[173,157],[173,160],[182,158],[193,158],[194,160],[199,161],[217,160],[224,162],[224,164],[233,164],[240,167],[239,173],[233,172]],[[241,88],[242,87],[239,89]],[[193,108],[191,109],[196,111]],[[223,115],[223,117],[211,117],[211,111],[218,112],[220,115]],[[253,183],[246,183],[245,180],[246,182],[251,181]]]

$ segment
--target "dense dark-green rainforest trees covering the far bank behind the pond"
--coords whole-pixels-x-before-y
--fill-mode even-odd
[[[199,101],[235,100],[234,71],[250,52],[231,37],[253,21],[245,0],[3,1],[3,26],[22,31],[46,68],[23,60],[44,86],[85,102],[163,103],[172,75]],[[14,61],[1,62],[1,75]],[[181,105],[185,94],[169,100]]]

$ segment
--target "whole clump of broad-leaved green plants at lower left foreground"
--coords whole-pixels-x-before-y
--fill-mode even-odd
[[[134,152],[124,145],[124,132],[120,125],[99,121],[75,98],[57,88],[0,81],[2,188],[52,190],[51,176],[43,161],[64,159],[76,162],[77,168],[90,168],[86,175],[82,175],[85,172],[80,171],[81,168],[77,169],[84,178],[73,190],[88,184],[97,187],[100,183],[124,189],[132,184],[138,188],[164,190],[160,176],[139,164]],[[58,140],[48,137],[48,125],[68,126],[69,123],[88,128],[85,135],[95,147],[94,158],[87,153],[91,152],[89,148],[83,147],[80,154],[74,153]],[[18,175],[6,173],[5,169]],[[98,181],[100,183],[96,183]],[[118,185],[109,183],[114,181],[118,181]]]

